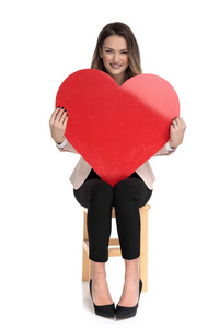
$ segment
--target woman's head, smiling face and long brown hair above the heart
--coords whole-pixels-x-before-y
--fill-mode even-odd
[[[107,69],[111,70],[107,71],[105,63],[110,65]],[[124,23],[112,23],[101,31],[91,68],[107,72],[112,77],[124,71],[125,80],[142,73],[138,43],[129,26]]]

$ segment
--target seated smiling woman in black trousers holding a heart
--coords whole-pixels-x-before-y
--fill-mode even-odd
[[[140,54],[131,30],[123,23],[106,25],[100,33],[91,68],[108,73],[120,86],[127,79],[141,74]],[[77,153],[65,138],[68,114],[56,108],[50,118],[51,137],[62,151]],[[183,141],[185,124],[174,118],[170,126],[170,141],[157,155],[168,155]],[[140,216],[139,208],[151,197],[154,176],[145,163],[130,177],[114,188],[103,181],[81,157],[70,178],[79,203],[88,208],[90,259],[92,260],[91,296],[95,313],[105,317],[128,318],[136,315],[141,281],[139,282]],[[111,235],[112,207],[125,260],[123,294],[115,309],[105,272]]]

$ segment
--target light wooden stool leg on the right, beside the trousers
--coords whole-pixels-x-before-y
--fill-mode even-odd
[[[148,291],[148,210],[140,210],[141,239],[139,271],[142,280],[142,292]]]

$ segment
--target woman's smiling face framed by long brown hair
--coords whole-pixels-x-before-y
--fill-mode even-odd
[[[125,79],[128,67],[128,46],[124,37],[118,35],[107,37],[103,43],[100,55],[103,58],[106,71],[112,78],[115,80]]]

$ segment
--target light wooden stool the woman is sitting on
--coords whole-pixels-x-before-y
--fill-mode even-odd
[[[148,291],[148,210],[149,204],[139,209],[141,221],[141,235],[140,235],[140,261],[139,273],[143,283],[142,292]],[[89,260],[89,237],[87,230],[87,209],[83,209],[83,267],[82,267],[82,281],[91,279],[91,261]],[[115,218],[115,209],[112,210],[112,218]],[[118,238],[111,238],[108,243],[108,256],[120,256],[120,246]]]

